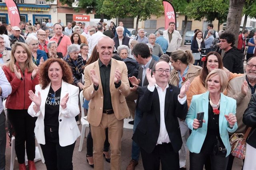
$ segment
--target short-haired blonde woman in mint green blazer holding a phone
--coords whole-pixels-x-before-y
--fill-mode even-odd
[[[228,77],[221,69],[211,71],[206,77],[206,93],[192,98],[186,123],[192,130],[186,143],[190,150],[190,170],[202,170],[210,156],[212,170],[224,170],[228,164],[230,143],[228,132],[237,129],[236,100],[222,94],[228,85]],[[204,112],[202,127],[196,119],[198,112]],[[216,137],[226,149],[226,155],[219,156],[213,152]]]

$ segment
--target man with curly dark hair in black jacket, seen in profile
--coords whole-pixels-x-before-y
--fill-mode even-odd
[[[224,50],[223,66],[233,73],[244,73],[243,52],[233,47],[236,41],[233,33],[224,32],[220,35],[220,49]]]

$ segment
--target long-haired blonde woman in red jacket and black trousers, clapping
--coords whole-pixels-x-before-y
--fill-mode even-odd
[[[12,93],[6,99],[8,118],[15,133],[15,152],[19,169],[26,170],[25,143],[30,170],[35,170],[35,122],[36,118],[28,114],[31,100],[28,90],[35,91],[39,83],[38,67],[33,63],[32,54],[25,43],[16,43],[12,47],[9,63],[3,66],[7,80],[12,86]]]

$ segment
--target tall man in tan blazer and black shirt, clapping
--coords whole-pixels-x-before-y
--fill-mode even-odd
[[[124,118],[130,115],[125,96],[130,93],[127,67],[112,59],[114,41],[101,37],[97,43],[100,58],[84,69],[84,98],[90,100],[87,120],[93,138],[94,169],[103,170],[103,146],[108,128],[111,169],[121,170],[121,138]]]

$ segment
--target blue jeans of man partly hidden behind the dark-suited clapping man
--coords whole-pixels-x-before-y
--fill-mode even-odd
[[[135,132],[137,125],[140,123],[140,120],[142,119],[142,112],[140,109],[136,108],[135,110],[135,117],[134,117],[134,125],[133,125],[133,133]],[[132,141],[132,159],[139,160],[140,156],[140,147]]]

